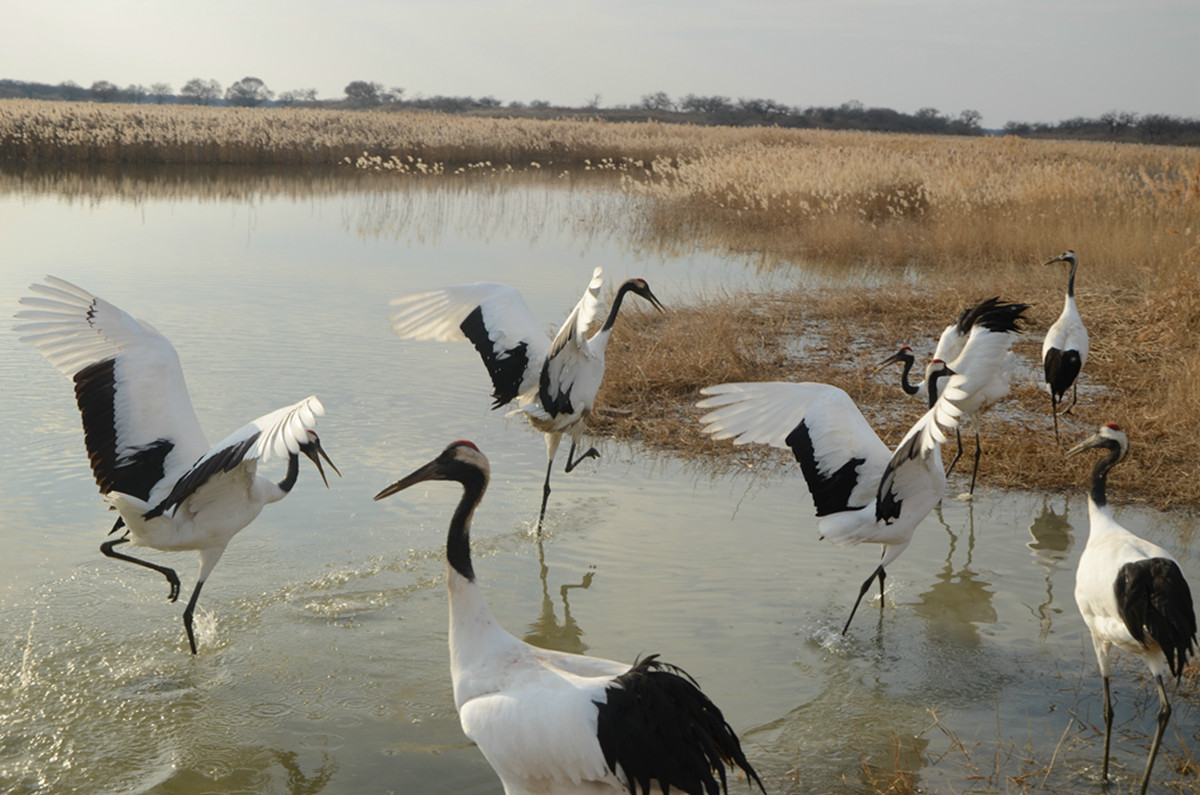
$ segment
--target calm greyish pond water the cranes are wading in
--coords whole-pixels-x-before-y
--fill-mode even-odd
[[[401,341],[386,323],[394,295],[494,280],[552,325],[595,265],[610,283],[644,276],[668,307],[805,276],[637,243],[631,208],[590,180],[0,185],[0,313],[44,274],[76,281],[173,341],[210,440],[317,394],[344,474],[325,490],[302,464],[295,491],[234,539],[200,598],[192,657],[162,578],[98,554],[113,516],[70,383],[0,334],[0,789],[500,791],[450,691],[442,544],[457,490],[371,500],[460,437],[492,461],[474,538],[500,622],[545,646],[682,664],[769,791],[886,789],[894,771],[940,791],[1002,791],[1026,775],[1096,789],[1099,681],[1072,598],[1082,488],[1003,492],[984,473],[973,504],[947,500],[926,520],[883,608],[865,602],[842,638],[878,551],[817,542],[793,466],[714,476],[601,441],[599,462],[556,472],[536,540],[541,436],[488,411],[470,346]],[[1186,518],[1118,516],[1200,570]],[[193,555],[146,556],[190,592]],[[1122,788],[1156,707],[1134,673],[1121,665],[1114,683]],[[1194,710],[1175,706],[1166,752],[1200,741]],[[1168,777],[1160,761],[1156,781]]]

